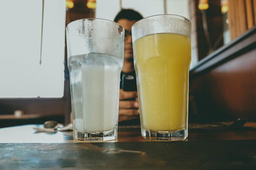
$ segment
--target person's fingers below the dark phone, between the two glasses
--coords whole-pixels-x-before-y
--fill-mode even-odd
[[[118,121],[131,120],[139,117],[137,92],[125,92],[120,89]]]

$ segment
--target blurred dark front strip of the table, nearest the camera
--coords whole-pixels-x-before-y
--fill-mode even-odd
[[[0,169],[255,169],[255,141],[0,144]]]

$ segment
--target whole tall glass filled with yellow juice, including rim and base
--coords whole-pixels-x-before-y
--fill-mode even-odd
[[[141,135],[152,141],[188,138],[191,22],[155,15],[132,26]]]

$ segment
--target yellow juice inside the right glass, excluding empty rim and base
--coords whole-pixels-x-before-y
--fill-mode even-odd
[[[141,126],[148,131],[179,131],[188,120],[190,38],[150,34],[134,42]]]

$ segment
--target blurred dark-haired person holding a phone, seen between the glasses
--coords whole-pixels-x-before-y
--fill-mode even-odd
[[[115,17],[115,22],[124,27],[124,67],[121,72],[119,118],[118,121],[139,118],[138,94],[136,90],[136,74],[132,50],[132,25],[143,17],[138,11],[122,9]]]

